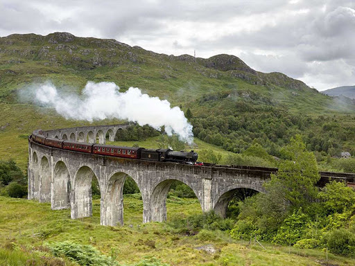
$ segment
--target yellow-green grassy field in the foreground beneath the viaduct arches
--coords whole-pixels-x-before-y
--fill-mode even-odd
[[[13,243],[31,251],[46,242],[65,240],[92,245],[107,255],[114,249],[120,264],[153,256],[170,265],[327,265],[326,254],[320,250],[262,243],[263,249],[254,242],[235,242],[221,231],[202,230],[196,236],[178,233],[174,221],[201,213],[197,199],[169,197],[168,222],[163,223],[141,224],[139,195],[125,195],[124,208],[123,227],[103,227],[99,225],[99,199],[94,200],[91,218],[71,220],[70,210],[51,211],[50,204],[0,197],[0,265],[22,265],[6,264],[11,254],[19,256],[8,248]],[[196,249],[209,244],[216,249],[214,254]],[[351,258],[332,254],[328,258],[329,265],[355,265]]]

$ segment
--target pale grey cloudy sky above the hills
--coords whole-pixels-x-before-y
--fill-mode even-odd
[[[355,85],[355,0],[0,0],[0,36],[66,31],[157,53],[227,53],[318,90]]]

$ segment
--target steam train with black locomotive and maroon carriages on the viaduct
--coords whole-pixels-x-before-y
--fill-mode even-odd
[[[33,141],[60,148],[64,150],[74,150],[76,152],[86,152],[113,157],[122,157],[129,159],[141,159],[146,161],[172,161],[175,163],[196,164],[198,154],[196,152],[175,152],[171,149],[145,149],[135,147],[89,144],[77,141],[64,141],[62,139],[53,139],[44,136],[42,130],[35,130],[30,136]]]

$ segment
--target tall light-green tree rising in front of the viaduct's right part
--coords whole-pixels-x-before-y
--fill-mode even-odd
[[[282,154],[284,160],[279,163],[277,174],[272,175],[271,180],[264,184],[266,193],[254,195],[239,204],[240,214],[236,228],[244,228],[243,224],[238,227],[243,221],[253,224],[254,232],[266,240],[272,240],[276,236],[288,215],[300,208],[306,211],[318,193],[315,184],[320,176],[315,157],[313,152],[306,151],[301,137],[291,138]],[[284,238],[290,224],[297,224],[297,215],[301,214],[295,213],[295,217],[284,224],[284,229],[279,231],[279,239]],[[303,215],[301,216],[303,219]],[[292,242],[300,238],[302,230],[293,232]],[[234,231],[234,235],[239,236],[238,229]]]

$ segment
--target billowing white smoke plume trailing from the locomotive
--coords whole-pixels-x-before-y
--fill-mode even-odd
[[[83,96],[61,96],[52,84],[43,84],[35,91],[36,100],[42,105],[55,108],[65,118],[94,121],[119,118],[150,125],[156,130],[164,125],[166,134],[178,134],[179,139],[193,142],[192,125],[179,107],[171,108],[167,100],[142,94],[130,87],[120,92],[114,82],[87,82]]]

